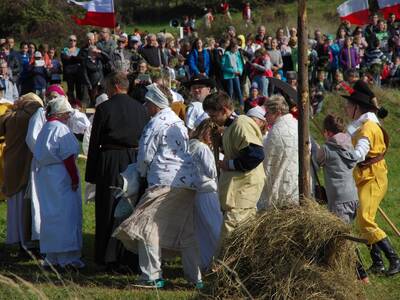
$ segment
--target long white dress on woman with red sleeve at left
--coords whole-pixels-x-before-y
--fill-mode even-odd
[[[79,143],[67,125],[47,122],[35,144],[36,183],[40,202],[40,251],[53,265],[82,267],[82,199],[73,191],[63,163],[79,153]]]

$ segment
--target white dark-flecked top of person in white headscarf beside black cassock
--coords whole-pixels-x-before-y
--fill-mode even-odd
[[[188,132],[168,107],[153,116],[139,141],[138,172],[149,186],[195,187]]]

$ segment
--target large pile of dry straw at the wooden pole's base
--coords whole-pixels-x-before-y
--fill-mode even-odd
[[[216,262],[219,299],[363,299],[350,226],[306,200],[237,228]]]

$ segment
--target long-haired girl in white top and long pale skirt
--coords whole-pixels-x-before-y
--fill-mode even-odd
[[[217,190],[217,168],[211,146],[214,123],[205,119],[191,135],[189,152],[196,166],[195,231],[200,249],[201,270],[211,264],[219,244],[222,212]]]

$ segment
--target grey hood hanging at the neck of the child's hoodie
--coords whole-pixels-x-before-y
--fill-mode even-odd
[[[338,133],[329,138],[326,145],[336,151],[343,159],[343,162],[349,167],[354,168],[357,164],[357,158],[354,152],[354,147],[351,142],[351,137],[347,133]]]

